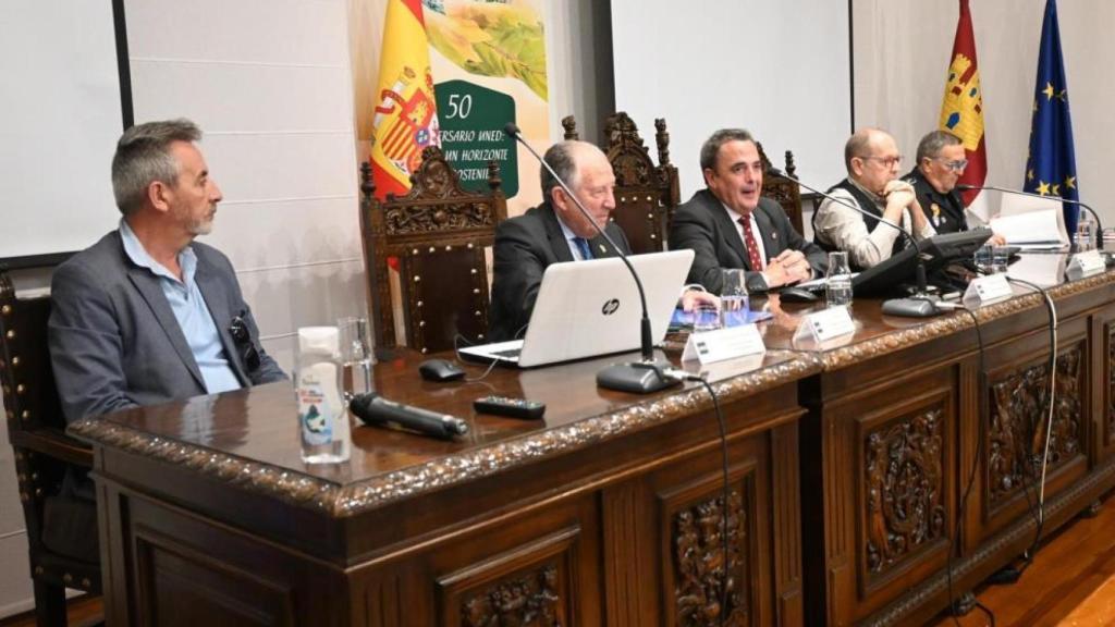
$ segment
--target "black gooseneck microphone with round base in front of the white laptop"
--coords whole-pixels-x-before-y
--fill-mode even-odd
[[[600,233],[604,240],[611,244],[617,254],[619,254],[623,264],[627,266],[628,271],[631,272],[631,277],[634,278],[636,287],[639,289],[639,302],[642,305],[642,320],[640,328],[642,360],[608,366],[603,370],[597,373],[597,385],[608,389],[618,389],[620,392],[650,394],[680,383],[680,380],[676,377],[671,377],[667,374],[667,369],[670,368],[670,364],[655,360],[653,334],[650,328],[650,317],[647,315],[647,295],[643,292],[642,281],[639,280],[639,273],[634,271],[631,262],[628,261],[627,254],[620,250],[620,247],[615,245],[615,241],[612,240],[607,232],[604,232],[600,224],[597,224],[597,221],[593,220],[589,210],[581,204],[581,200],[576,197],[573,190],[570,190],[565,181],[562,181],[562,177],[554,172],[554,168],[546,163],[546,160],[542,158],[542,156],[539,155],[539,153],[535,152],[529,143],[526,143],[526,139],[524,139],[520,134],[518,126],[514,122],[508,122],[503,127],[503,132],[530,151],[530,153],[534,155],[534,158],[542,164],[542,167],[546,168],[546,172],[554,177],[565,194],[568,194],[573,201],[573,204],[576,205],[576,209],[581,211],[581,214],[588,219],[589,223],[592,224],[597,232]]]

